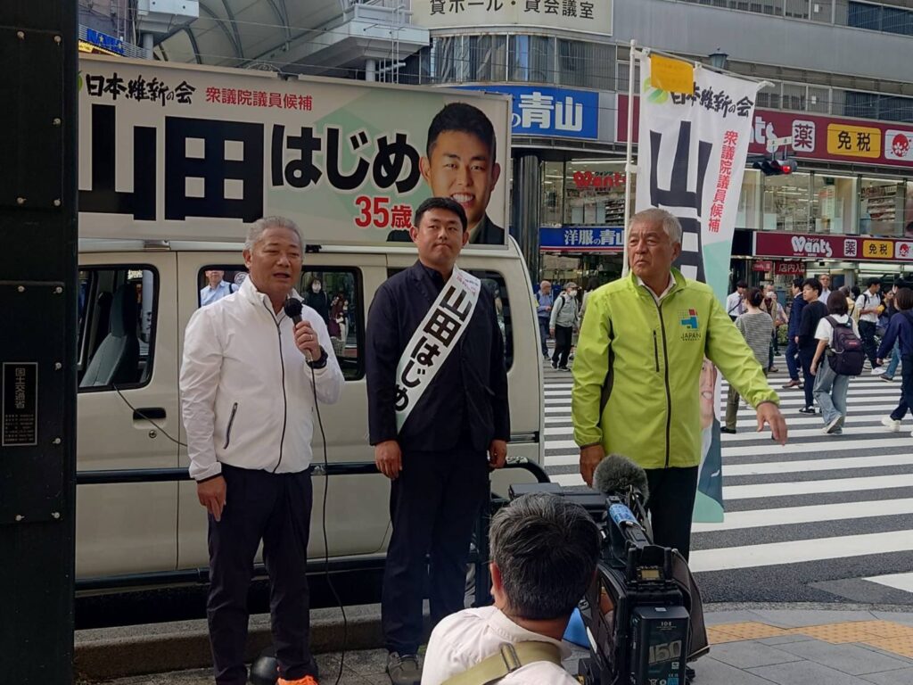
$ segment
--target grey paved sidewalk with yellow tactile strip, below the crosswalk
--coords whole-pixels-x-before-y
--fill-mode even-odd
[[[709,607],[706,617],[712,648],[694,664],[695,685],[913,685],[913,613],[820,605]],[[320,655],[324,685],[335,682],[339,656]],[[385,656],[382,649],[346,654],[340,684],[388,685]],[[575,663],[567,665],[575,670]],[[213,680],[208,670],[197,669],[109,682],[212,685]]]

